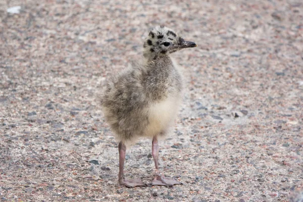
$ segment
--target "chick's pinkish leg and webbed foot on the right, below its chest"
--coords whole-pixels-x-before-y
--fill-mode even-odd
[[[159,145],[157,136],[153,138],[152,144],[153,145],[151,147],[151,154],[153,155],[155,161],[156,170],[155,178],[153,182],[151,182],[151,185],[173,186],[174,184],[182,184],[182,182],[162,176],[161,172],[159,171]]]

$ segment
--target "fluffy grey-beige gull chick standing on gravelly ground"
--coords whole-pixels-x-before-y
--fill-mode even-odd
[[[119,184],[146,186],[141,179],[124,177],[126,145],[140,137],[152,139],[155,174],[151,185],[182,184],[162,175],[158,138],[168,133],[182,99],[182,77],[170,54],[196,46],[174,30],[156,26],[149,30],[144,40],[142,59],[131,62],[105,85],[100,102],[105,120],[119,142]]]

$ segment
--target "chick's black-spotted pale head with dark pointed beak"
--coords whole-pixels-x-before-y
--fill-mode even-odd
[[[157,26],[148,33],[143,48],[144,57],[154,59],[157,56],[167,55],[182,48],[196,47],[192,41],[185,41],[178,34],[165,26]]]

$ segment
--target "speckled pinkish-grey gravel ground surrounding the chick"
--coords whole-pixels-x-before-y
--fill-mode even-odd
[[[301,0],[0,0],[0,18],[1,201],[288,201],[302,188]],[[97,96],[160,24],[198,44],[174,54],[184,102],[160,141],[184,185],[129,189]],[[151,182],[149,139],[126,159],[127,178]]]

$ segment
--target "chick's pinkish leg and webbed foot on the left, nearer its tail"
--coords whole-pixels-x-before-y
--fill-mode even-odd
[[[125,179],[124,162],[126,155],[126,146],[122,141],[119,143],[118,149],[119,149],[119,175],[118,175],[119,184],[125,185],[126,187],[129,188],[135,186],[146,186],[146,184],[144,184],[141,179],[134,179],[134,180]]]

